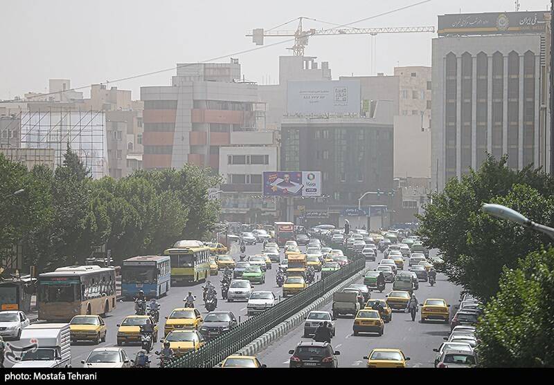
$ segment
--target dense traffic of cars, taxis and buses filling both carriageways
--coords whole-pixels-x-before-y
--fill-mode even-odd
[[[443,331],[441,323],[452,325],[452,335],[417,349],[429,350],[432,366],[476,364],[473,326],[480,304],[464,297],[451,319],[459,290],[444,279],[436,284],[433,258],[418,236],[294,227],[275,223],[274,230],[241,232],[229,245],[181,240],[163,255],[135,256],[121,267],[70,266],[39,274],[38,320],[0,312],[0,325],[6,325],[0,333],[12,339],[3,346],[10,353],[2,355],[3,365],[168,366],[354,259],[366,261],[364,275],[334,292],[298,330],[256,357],[232,355],[219,366],[338,367],[348,365],[352,352],[359,356],[350,366],[360,366],[362,357],[368,367],[411,366],[413,344],[398,339],[421,330],[406,328],[404,321],[427,323],[430,332]],[[445,285],[447,292],[440,287]],[[30,338],[42,341],[38,348],[26,345]],[[339,348],[348,353],[341,355]]]

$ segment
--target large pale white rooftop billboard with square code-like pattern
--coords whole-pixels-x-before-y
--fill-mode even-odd
[[[287,82],[287,113],[359,113],[359,80]]]

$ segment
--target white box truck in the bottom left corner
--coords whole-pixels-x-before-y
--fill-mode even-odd
[[[13,368],[71,368],[69,323],[34,323],[21,330]]]

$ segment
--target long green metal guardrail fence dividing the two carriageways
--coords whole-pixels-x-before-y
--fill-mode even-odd
[[[333,245],[341,248],[342,245]],[[346,253],[345,253],[346,255]],[[175,359],[166,368],[213,368],[229,355],[247,346],[260,335],[271,330],[285,319],[301,311],[303,308],[321,297],[339,283],[364,269],[366,263],[363,258],[354,257],[352,262],[337,272],[308,286],[305,290],[294,294],[289,299],[265,310],[247,321],[240,323],[224,335],[204,344],[196,351],[186,353]]]

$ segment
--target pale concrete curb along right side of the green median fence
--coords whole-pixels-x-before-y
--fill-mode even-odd
[[[321,308],[321,306],[332,301],[332,297],[335,292],[346,288],[346,286],[350,285],[353,281],[356,281],[361,276],[364,276],[366,272],[368,272],[368,270],[370,270],[370,267],[364,267],[361,272],[358,272],[346,281],[339,283],[339,285],[335,286],[329,292],[325,293],[323,297],[317,299],[309,306],[306,306],[305,308],[294,314],[292,317],[285,319],[285,321],[279,323],[276,327],[272,328],[268,332],[265,332],[263,335],[252,341],[250,344],[238,350],[237,353],[240,355],[256,355],[256,353],[258,353],[260,350],[265,349],[274,341],[276,341],[280,337],[283,337],[283,335],[286,335],[290,330],[300,325],[304,321],[304,317],[307,316],[309,312]]]

